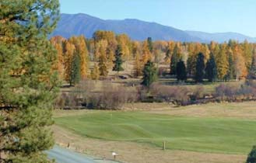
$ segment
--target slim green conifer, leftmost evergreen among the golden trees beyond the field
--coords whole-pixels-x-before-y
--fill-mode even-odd
[[[75,54],[72,60],[72,71],[70,85],[76,85],[81,79],[81,61],[79,54]]]

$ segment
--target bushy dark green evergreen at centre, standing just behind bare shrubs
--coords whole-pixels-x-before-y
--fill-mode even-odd
[[[148,61],[143,69],[142,85],[149,87],[153,82],[156,82],[157,71],[152,61]]]

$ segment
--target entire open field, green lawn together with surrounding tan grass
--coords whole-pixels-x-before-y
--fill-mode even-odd
[[[62,135],[57,142],[74,142],[74,146],[86,153],[97,148],[96,154],[109,157],[107,151],[100,150],[108,144],[105,150],[117,151],[121,154],[120,161],[141,162],[143,158],[144,162],[154,162],[163,157],[164,162],[242,162],[256,141],[255,104],[210,103],[174,107],[153,103],[147,104],[146,109],[138,103],[135,111],[56,110],[54,130],[57,135],[75,135],[72,139],[77,140],[67,137],[65,140]],[[163,141],[166,141],[166,151],[161,150]],[[143,154],[129,156],[129,153],[140,153],[145,148],[149,153],[153,152],[151,154],[156,159],[151,160]],[[184,152],[198,155],[198,159],[182,158]],[[174,161],[176,157],[181,158]]]

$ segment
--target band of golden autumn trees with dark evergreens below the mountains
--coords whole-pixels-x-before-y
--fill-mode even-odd
[[[238,43],[181,43],[174,41],[131,40],[126,34],[96,31],[91,39],[72,36],[51,38],[58,51],[58,69],[61,78],[70,85],[80,79],[97,80],[107,77],[110,70],[123,71],[126,61],[132,61],[134,77],[142,76],[148,61],[160,68],[170,65],[170,75],[180,81],[187,78],[195,82],[240,80],[254,78],[256,72],[256,44],[245,40]],[[89,66],[89,61],[94,63]]]

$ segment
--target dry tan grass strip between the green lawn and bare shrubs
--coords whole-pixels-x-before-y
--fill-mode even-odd
[[[141,110],[147,113],[167,114],[170,116],[191,117],[226,117],[241,119],[256,119],[256,102],[209,103],[206,105],[193,105],[176,107],[168,103],[133,103],[125,104],[123,110]],[[96,113],[100,110],[55,110],[54,117],[78,116],[83,113]]]

